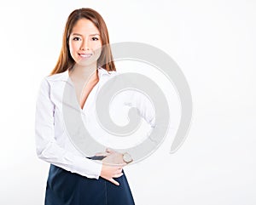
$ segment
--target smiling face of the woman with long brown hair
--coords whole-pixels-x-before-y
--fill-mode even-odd
[[[102,39],[96,26],[85,18],[73,26],[69,37],[69,50],[78,65],[96,66],[102,51]]]

